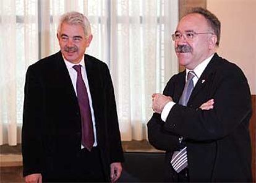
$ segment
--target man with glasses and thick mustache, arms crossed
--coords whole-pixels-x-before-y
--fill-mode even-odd
[[[148,140],[166,151],[166,181],[251,182],[250,89],[242,70],[216,54],[220,21],[195,8],[172,38],[186,70],[152,95],[148,122]]]

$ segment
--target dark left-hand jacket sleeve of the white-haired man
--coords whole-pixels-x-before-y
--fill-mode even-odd
[[[22,156],[23,176],[41,172],[42,94],[38,73],[28,67],[23,105]]]

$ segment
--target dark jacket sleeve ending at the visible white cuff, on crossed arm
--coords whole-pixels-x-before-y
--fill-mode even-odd
[[[239,126],[246,130],[252,105],[249,85],[242,70],[228,67],[217,71],[211,85],[208,100],[215,100],[213,109],[201,110],[175,104],[164,129],[199,142],[223,138]],[[192,103],[193,100],[197,100],[196,96]]]

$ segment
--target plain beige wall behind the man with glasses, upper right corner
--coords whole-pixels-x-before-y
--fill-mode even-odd
[[[256,0],[207,0],[207,9],[221,21],[218,54],[236,63],[256,95]]]

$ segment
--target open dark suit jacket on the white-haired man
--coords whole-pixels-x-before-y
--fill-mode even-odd
[[[113,83],[105,63],[85,54],[105,176],[122,162]],[[61,52],[28,67],[22,127],[23,175],[54,174],[72,166],[81,149],[80,110]]]

